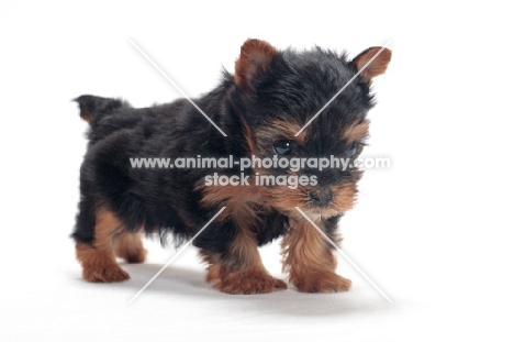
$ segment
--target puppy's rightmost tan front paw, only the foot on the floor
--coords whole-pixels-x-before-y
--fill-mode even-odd
[[[291,282],[301,293],[339,293],[351,287],[351,280],[335,273],[293,277]]]

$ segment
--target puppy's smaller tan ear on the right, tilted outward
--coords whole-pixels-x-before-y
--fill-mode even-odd
[[[380,52],[380,49],[382,49],[382,47],[378,47],[378,46],[370,47],[361,52],[357,57],[354,58],[354,60],[351,60],[351,64],[355,66],[357,70],[360,70],[361,68],[366,66],[367,63],[369,63],[366,66],[366,68],[362,70],[362,73],[360,73],[360,76],[368,84],[371,82],[371,79],[373,77],[377,77],[386,73],[389,62],[391,62],[391,54],[392,54],[391,51],[389,48],[384,48],[382,52]],[[377,55],[377,57],[375,57],[375,55]]]

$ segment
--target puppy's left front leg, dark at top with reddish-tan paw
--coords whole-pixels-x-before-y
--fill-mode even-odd
[[[201,251],[209,263],[206,280],[226,294],[266,294],[284,289],[287,284],[273,278],[264,267],[257,241],[247,229],[239,229],[223,253]]]

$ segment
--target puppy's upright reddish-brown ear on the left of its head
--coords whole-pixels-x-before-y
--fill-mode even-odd
[[[247,40],[235,63],[235,82],[239,87],[252,87],[253,81],[266,73],[277,54],[277,49],[265,41]]]

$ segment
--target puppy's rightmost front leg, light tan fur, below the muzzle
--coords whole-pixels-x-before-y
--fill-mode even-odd
[[[283,268],[302,293],[346,291],[351,280],[335,273],[333,246],[303,217],[290,219],[291,229],[282,240]],[[317,227],[324,224],[316,222]]]

